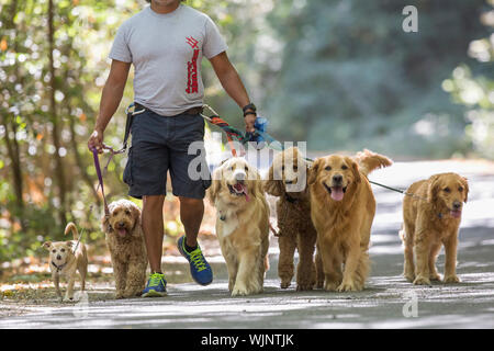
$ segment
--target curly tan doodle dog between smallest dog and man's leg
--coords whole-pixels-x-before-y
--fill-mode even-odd
[[[109,205],[103,217],[115,278],[116,298],[139,296],[146,282],[147,253],[141,229],[141,210],[132,201],[119,200]]]

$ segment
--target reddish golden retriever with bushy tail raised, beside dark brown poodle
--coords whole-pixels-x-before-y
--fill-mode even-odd
[[[317,230],[317,252],[326,291],[363,288],[375,214],[375,200],[367,176],[391,163],[389,158],[364,150],[355,158],[322,157],[311,168],[311,217]]]

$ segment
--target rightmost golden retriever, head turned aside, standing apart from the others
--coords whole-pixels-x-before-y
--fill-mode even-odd
[[[458,283],[456,274],[458,229],[469,183],[457,173],[440,173],[413,183],[403,200],[405,247],[404,276],[417,285],[439,281],[436,258],[445,246],[445,283]],[[414,264],[414,251],[416,265]]]

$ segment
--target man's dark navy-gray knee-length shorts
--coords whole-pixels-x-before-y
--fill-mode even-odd
[[[204,120],[199,114],[161,116],[146,110],[135,115],[132,146],[123,174],[123,181],[130,186],[128,195],[137,199],[166,195],[169,170],[173,195],[204,199],[205,190],[211,185],[204,145],[195,154],[188,154],[191,143],[203,140]],[[195,166],[198,160],[201,162]],[[194,169],[202,172],[201,178],[189,177],[191,161]]]

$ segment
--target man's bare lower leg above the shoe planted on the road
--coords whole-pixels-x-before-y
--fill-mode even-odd
[[[165,195],[143,196],[142,227],[151,273],[161,272]]]

